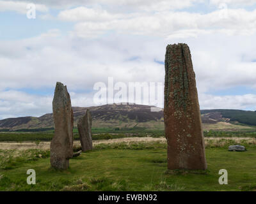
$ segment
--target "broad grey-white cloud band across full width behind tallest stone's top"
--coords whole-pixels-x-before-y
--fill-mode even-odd
[[[106,82],[108,77],[121,82],[163,82],[163,65],[154,59],[164,61],[166,45],[180,41],[191,48],[200,92],[236,85],[255,87],[255,35],[200,34],[163,40],[111,34],[88,40],[51,31],[0,43],[0,89],[52,87],[56,81],[72,90],[92,89],[95,82]]]

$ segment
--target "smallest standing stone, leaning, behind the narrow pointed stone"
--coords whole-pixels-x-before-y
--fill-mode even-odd
[[[92,116],[87,109],[84,117],[81,117],[77,123],[79,138],[83,152],[92,150]]]

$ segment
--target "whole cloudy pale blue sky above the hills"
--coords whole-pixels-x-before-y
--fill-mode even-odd
[[[201,109],[255,110],[255,0],[0,1],[0,119],[50,113],[57,81],[73,106],[108,77],[163,82],[173,43],[190,47]]]

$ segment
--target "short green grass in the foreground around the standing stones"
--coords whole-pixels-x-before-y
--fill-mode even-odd
[[[9,168],[0,168],[0,191],[253,191],[256,190],[256,147],[246,152],[205,149],[207,171],[166,171],[165,143],[97,145],[70,159],[70,168],[50,168],[49,151],[0,151],[11,156]],[[32,151],[32,152],[31,152]],[[39,156],[40,154],[40,156]],[[35,159],[33,159],[35,157]],[[42,157],[42,158],[41,158]],[[36,185],[26,184],[26,171],[36,171]],[[218,183],[218,171],[228,171],[228,185]]]

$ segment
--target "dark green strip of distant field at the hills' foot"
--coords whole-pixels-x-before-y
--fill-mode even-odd
[[[92,129],[93,140],[109,140],[115,138],[125,137],[145,137],[151,136],[154,138],[163,137],[164,131],[159,129],[147,130],[144,128],[97,128]],[[0,132],[0,142],[24,142],[24,141],[51,141],[54,136],[54,130],[43,132]],[[218,130],[205,130],[205,137],[251,137],[256,138],[256,129],[239,129],[238,131],[218,131]],[[79,140],[77,129],[74,129],[74,140]]]

